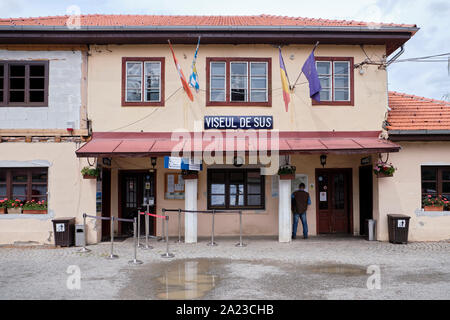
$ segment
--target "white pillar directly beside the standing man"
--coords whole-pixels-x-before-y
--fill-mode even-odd
[[[280,179],[278,186],[278,241],[291,242],[291,180]]]

